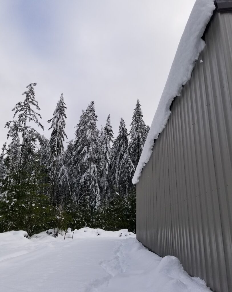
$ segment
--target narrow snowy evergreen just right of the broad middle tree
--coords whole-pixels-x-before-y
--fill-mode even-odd
[[[112,126],[110,125],[110,115],[108,115],[105,127],[101,129],[100,135],[100,169],[101,169],[101,196],[104,200],[107,200],[110,197],[111,189],[111,145],[113,142],[113,131]]]

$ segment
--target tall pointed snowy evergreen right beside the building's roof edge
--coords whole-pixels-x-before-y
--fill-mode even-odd
[[[148,128],[143,121],[143,113],[141,110],[139,100],[137,100],[130,126],[131,131],[129,134],[130,135],[129,152],[131,160],[136,168],[148,134]]]

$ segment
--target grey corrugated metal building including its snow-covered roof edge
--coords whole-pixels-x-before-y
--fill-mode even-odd
[[[232,0],[197,0],[132,180],[137,239],[232,291]]]

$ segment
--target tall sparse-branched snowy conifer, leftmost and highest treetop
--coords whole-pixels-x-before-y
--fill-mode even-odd
[[[23,180],[23,176],[19,175],[23,172],[27,172],[27,168],[30,168],[30,164],[33,163],[33,156],[36,143],[39,140],[40,134],[31,126],[30,122],[35,123],[38,127],[43,128],[38,118],[41,116],[36,112],[40,110],[38,102],[35,100],[34,87],[36,83],[30,83],[27,86],[27,91],[22,93],[26,95],[23,102],[18,102],[12,109],[15,111],[14,118],[17,115],[16,120],[8,121],[5,128],[8,128],[7,138],[11,138],[6,150],[6,178],[5,184],[20,184]],[[22,136],[22,143],[20,144],[20,136]],[[23,172],[21,171],[21,168]],[[16,174],[16,175],[15,175]],[[14,181],[16,179],[16,181]],[[25,178],[26,179],[26,178]]]

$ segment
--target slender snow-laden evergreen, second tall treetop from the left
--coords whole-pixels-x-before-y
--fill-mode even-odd
[[[56,204],[58,198],[57,192],[57,185],[56,182],[58,180],[57,172],[59,168],[59,164],[61,163],[64,145],[63,142],[67,135],[65,133],[65,102],[63,98],[63,93],[60,96],[59,101],[57,102],[56,109],[53,112],[53,117],[48,120],[48,123],[51,123],[51,127],[49,130],[52,129],[51,138],[46,146],[46,165],[49,169],[49,176],[52,182],[52,190],[51,190],[51,201],[53,204]],[[60,201],[58,202],[60,203]]]

